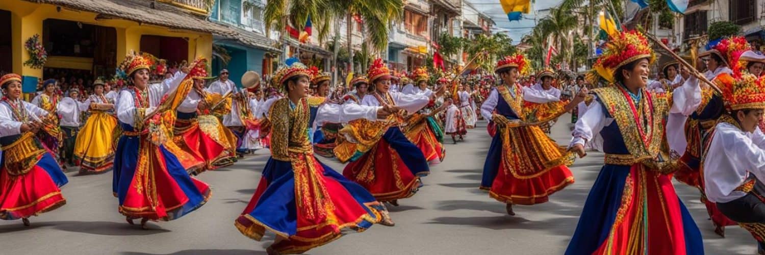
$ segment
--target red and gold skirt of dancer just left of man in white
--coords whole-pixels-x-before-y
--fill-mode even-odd
[[[173,140],[178,148],[204,162],[204,166],[194,172],[197,174],[233,165],[236,159],[237,138],[215,116],[177,121]]]

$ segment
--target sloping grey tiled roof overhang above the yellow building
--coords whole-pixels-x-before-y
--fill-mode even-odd
[[[90,11],[103,18],[120,18],[138,22],[138,24],[158,25],[161,27],[200,31],[220,34],[226,38],[238,38],[240,33],[226,26],[207,21],[190,14],[181,8],[162,2],[145,0],[24,0],[38,4],[60,5],[80,11]],[[154,8],[151,8],[154,5]]]

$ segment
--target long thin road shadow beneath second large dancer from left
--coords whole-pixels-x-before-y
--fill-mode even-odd
[[[54,221],[51,222],[57,230],[67,232],[77,232],[85,234],[98,234],[104,236],[145,236],[150,234],[162,234],[170,230],[162,229],[151,221],[146,224],[148,229],[144,230],[139,226],[140,220],[135,225],[127,222],[112,221]]]

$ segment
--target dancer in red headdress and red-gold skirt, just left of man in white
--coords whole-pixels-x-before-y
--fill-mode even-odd
[[[194,81],[194,88],[178,106],[173,141],[184,152],[204,162],[203,167],[195,168],[190,173],[198,175],[233,165],[237,138],[220,123],[220,119],[213,116],[213,113],[225,108],[225,99],[218,93],[204,90],[204,81],[208,78],[205,65],[191,67],[186,77]]]

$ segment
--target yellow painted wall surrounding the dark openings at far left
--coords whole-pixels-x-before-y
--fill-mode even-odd
[[[213,35],[196,31],[171,30],[155,25],[138,25],[134,21],[110,19],[96,21],[96,13],[72,11],[54,5],[41,5],[21,0],[0,1],[0,9],[11,11],[11,44],[13,48],[13,72],[30,77],[42,77],[41,69],[25,67],[24,61],[29,56],[24,49],[24,41],[34,34],[43,34],[43,21],[47,18],[80,21],[86,24],[116,28],[117,64],[125,59],[130,51],[140,51],[143,34],[188,38],[188,60],[195,57],[207,57],[213,54]]]

